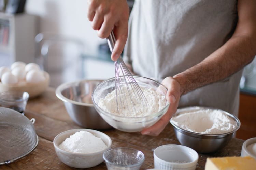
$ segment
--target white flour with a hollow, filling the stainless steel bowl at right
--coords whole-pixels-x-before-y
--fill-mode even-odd
[[[221,110],[204,109],[172,117],[171,122],[187,131],[223,134],[237,128],[236,121]]]

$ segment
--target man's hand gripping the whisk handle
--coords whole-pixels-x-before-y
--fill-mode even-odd
[[[113,29],[116,44],[111,54],[112,60],[121,55],[128,36],[129,7],[126,0],[88,0],[89,21],[100,38],[107,38]]]

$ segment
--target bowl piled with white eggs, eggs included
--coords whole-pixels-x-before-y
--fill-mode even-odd
[[[0,92],[26,91],[36,97],[49,86],[49,74],[36,63],[14,62],[11,67],[0,67]]]

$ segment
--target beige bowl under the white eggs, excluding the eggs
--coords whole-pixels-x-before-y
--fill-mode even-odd
[[[2,84],[0,82],[0,92],[5,91],[26,91],[29,98],[37,97],[42,94],[49,86],[49,74],[44,71],[44,81],[38,83],[22,83],[22,84]]]

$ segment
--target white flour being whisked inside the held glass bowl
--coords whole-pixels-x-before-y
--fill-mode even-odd
[[[137,100],[136,93],[131,91],[131,96],[134,101],[134,108],[136,112],[134,112],[133,103],[131,101],[130,94],[127,90],[127,88],[124,88],[124,92],[122,93],[123,96],[125,96],[125,99],[127,101],[127,105],[125,103],[123,109],[120,102],[120,95],[117,96],[118,99],[118,108],[119,112],[117,110],[116,106],[116,91],[112,91],[108,95],[106,95],[105,98],[101,98],[98,102],[98,106],[103,109],[106,112],[116,114],[119,116],[124,117],[142,117],[147,116],[153,113],[156,113],[163,109],[166,106],[166,97],[160,93],[158,93],[154,88],[144,88],[140,87],[143,91],[144,96],[147,99],[149,107],[145,107],[145,104],[143,105],[141,100]],[[119,94],[119,92],[117,92]],[[137,98],[136,98],[137,97]],[[124,100],[124,98],[122,98]],[[128,107],[127,107],[128,106]]]

